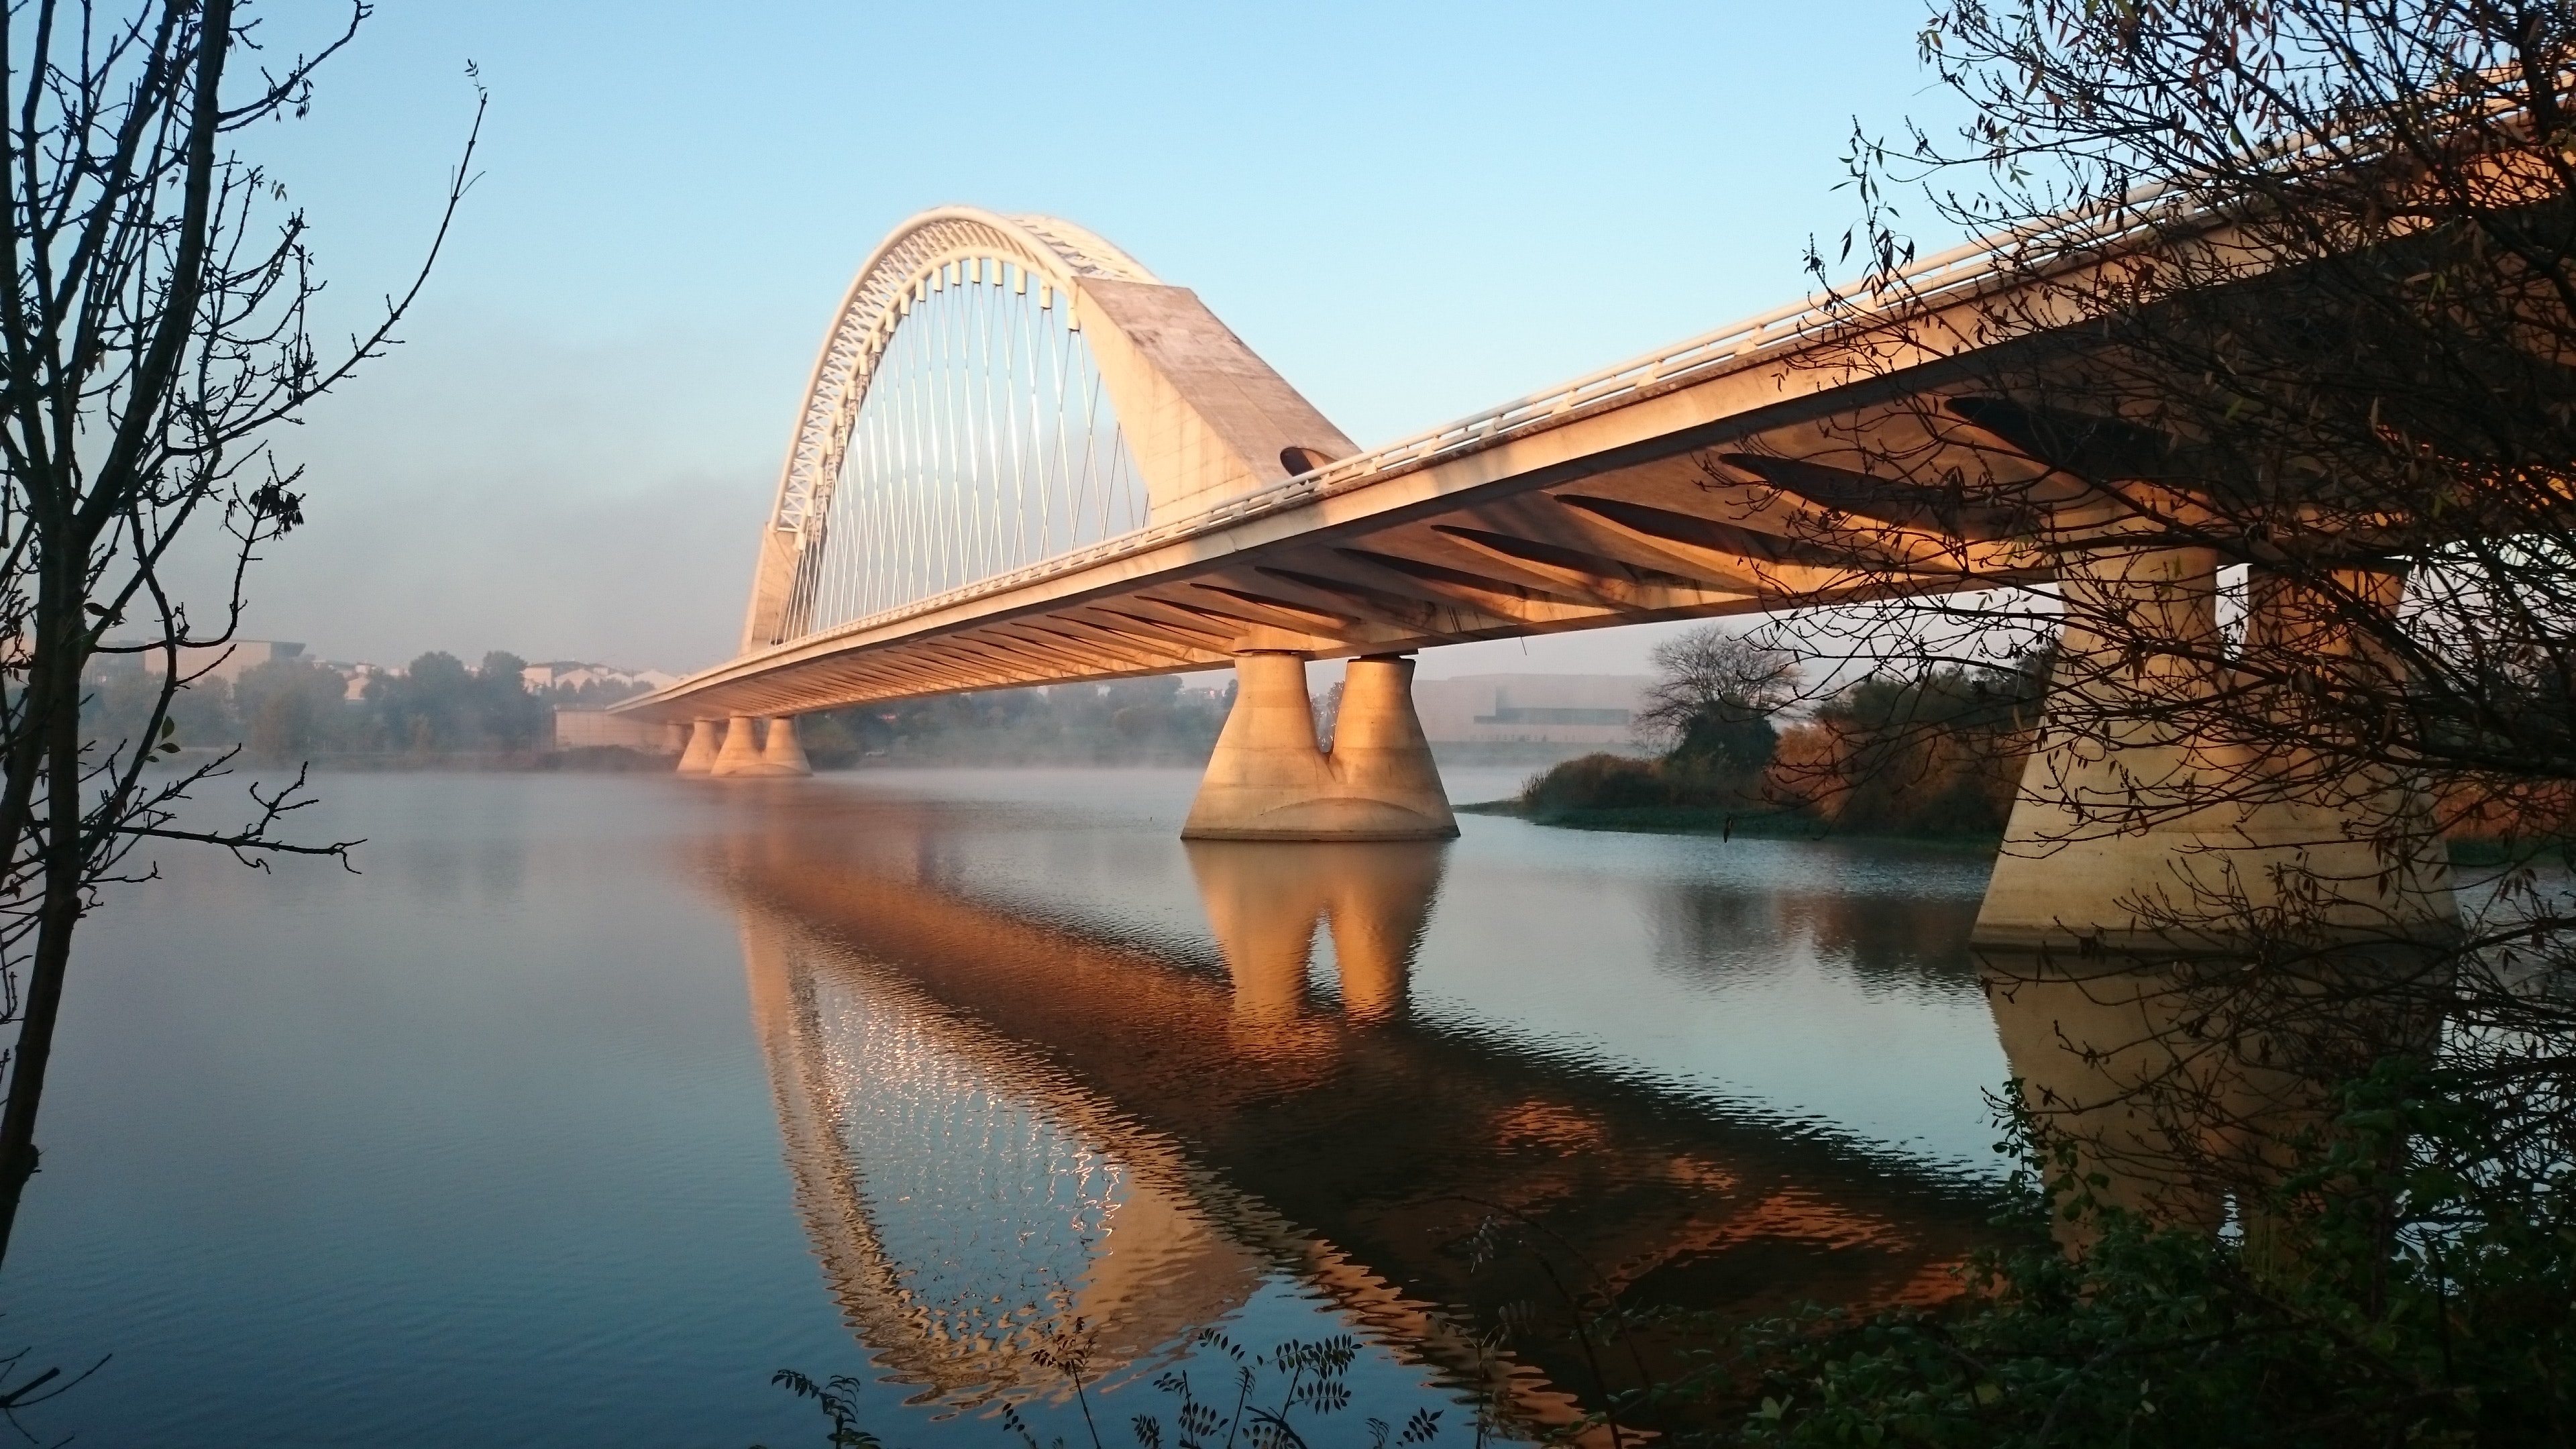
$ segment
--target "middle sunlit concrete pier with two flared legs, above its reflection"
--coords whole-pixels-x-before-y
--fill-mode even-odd
[[[1422,719],[1414,660],[1350,660],[1327,755],[1306,657],[1236,655],[1234,712],[1190,802],[1185,841],[1448,841],[1458,835]]]

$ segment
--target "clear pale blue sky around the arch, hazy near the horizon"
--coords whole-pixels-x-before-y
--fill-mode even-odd
[[[263,44],[314,44],[281,3]],[[381,0],[286,186],[345,333],[474,186],[402,345],[283,431],[309,523],[250,637],[696,670],[732,655],[814,348],[935,204],[1190,286],[1363,446],[1806,294],[1855,119],[1940,116],[1922,0],[927,5]],[[466,67],[474,67],[474,77]],[[1667,629],[1430,650],[1633,673]]]

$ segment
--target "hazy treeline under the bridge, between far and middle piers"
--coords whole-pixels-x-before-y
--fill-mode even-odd
[[[796,722],[817,768],[855,763],[1167,766],[1200,763],[1234,704],[1172,676],[1051,683],[829,709]]]

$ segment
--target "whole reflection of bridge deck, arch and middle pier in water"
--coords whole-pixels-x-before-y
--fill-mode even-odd
[[[1597,1400],[1553,1281],[1924,1299],[1984,1235],[1963,1183],[1412,1021],[1445,846],[1190,843],[1211,959],[951,879],[935,807],[750,820],[716,877],[799,1207],[922,1397],[1059,1387],[1030,1351],[1074,1315],[1095,1377],[1151,1372],[1288,1276],[1535,1428]],[[1486,1220],[1528,1248],[1481,1256]]]

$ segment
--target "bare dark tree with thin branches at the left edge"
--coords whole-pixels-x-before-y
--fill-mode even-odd
[[[0,201],[0,1018],[15,1026],[0,1106],[0,1253],[36,1171],[72,936],[98,892],[149,877],[144,841],[343,856],[350,843],[281,833],[304,776],[250,786],[247,820],[183,822],[191,792],[229,763],[178,768],[170,701],[201,650],[232,639],[258,549],[301,523],[301,474],[263,436],[381,356],[428,276],[386,297],[337,348],[309,335],[322,291],[301,211],[237,139],[304,116],[312,80],[366,18],[314,54],[258,54],[250,5],[26,0],[0,23],[8,80]],[[471,70],[471,67],[469,67]],[[482,108],[430,240],[435,260],[466,191]],[[191,616],[170,565],[183,536],[219,534],[229,588]],[[85,673],[149,655],[160,699],[129,740],[82,740]]]

